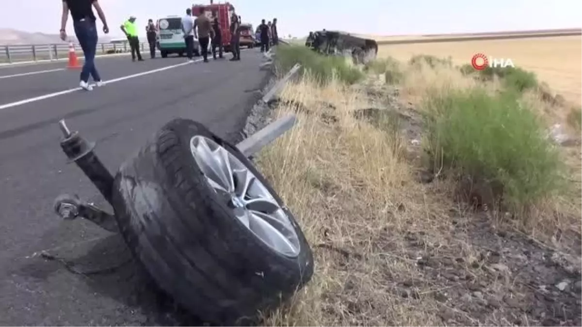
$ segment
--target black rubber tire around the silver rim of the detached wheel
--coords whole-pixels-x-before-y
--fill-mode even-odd
[[[119,229],[158,286],[191,314],[221,324],[253,322],[258,311],[309,282],[313,254],[288,211],[301,244],[296,258],[271,250],[233,216],[190,152],[196,135],[229,150],[285,208],[236,147],[200,123],[175,119],[120,167],[113,187]]]

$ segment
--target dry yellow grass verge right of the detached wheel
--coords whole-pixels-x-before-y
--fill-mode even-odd
[[[402,46],[390,54],[416,51]],[[455,202],[450,182],[417,181],[420,147],[402,130],[361,121],[354,112],[395,108],[415,120],[415,107],[430,92],[477,82],[452,67],[421,65],[404,67],[398,100],[393,87],[377,77],[367,83],[321,86],[306,77],[283,91],[288,101],[275,115],[297,112],[294,104],[308,111],[297,112],[299,125],[265,149],[258,166],[306,233],[315,273],[265,326],[535,326],[556,323],[548,313],[553,303],[574,303],[562,310],[570,313],[575,300],[560,294],[540,300],[530,286],[553,287],[563,276],[559,265],[544,266],[545,273],[538,274],[544,261],[522,257],[549,251],[534,239],[563,251],[577,245],[570,236],[582,232],[582,192],[575,189],[540,205],[535,223],[520,226],[527,237],[506,225],[503,215],[467,211]],[[488,88],[498,90],[498,81]],[[526,94],[524,101],[548,124],[562,119],[538,94]],[[582,147],[567,148],[563,155],[573,178],[582,180]]]

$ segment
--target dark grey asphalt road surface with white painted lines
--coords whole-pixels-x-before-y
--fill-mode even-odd
[[[98,141],[96,152],[112,171],[175,117],[237,136],[267,79],[258,50],[243,51],[241,62],[184,61],[98,59],[111,83],[91,92],[75,89],[78,71],[56,70],[65,63],[0,68],[0,326],[191,325],[155,292],[118,235],[86,221],[63,222],[52,211],[61,193],[104,202],[79,168],[66,164],[61,118]],[[14,76],[25,73],[34,74]]]

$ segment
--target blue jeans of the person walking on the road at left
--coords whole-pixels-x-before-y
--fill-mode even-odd
[[[81,81],[88,81],[89,75],[93,76],[94,81],[100,81],[101,76],[95,68],[95,52],[97,52],[97,24],[91,20],[81,20],[73,22],[74,34],[77,35],[83,54],[85,55],[85,63],[83,70],[81,70]]]

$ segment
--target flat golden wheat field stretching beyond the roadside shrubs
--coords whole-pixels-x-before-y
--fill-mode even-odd
[[[582,36],[523,38],[381,45],[379,57],[392,56],[406,61],[413,55],[451,57],[456,65],[471,62],[481,52],[494,58],[512,59],[516,67],[535,72],[569,101],[582,104]]]

